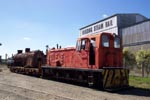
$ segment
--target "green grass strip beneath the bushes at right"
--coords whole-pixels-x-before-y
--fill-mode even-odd
[[[150,89],[150,77],[129,76],[129,85],[143,89]]]

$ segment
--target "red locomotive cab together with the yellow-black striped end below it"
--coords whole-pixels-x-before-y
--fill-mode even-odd
[[[101,33],[81,37],[76,50],[87,52],[89,68],[101,70],[103,88],[128,87],[129,70],[123,68],[122,44],[119,36]],[[96,80],[97,81],[97,80]]]

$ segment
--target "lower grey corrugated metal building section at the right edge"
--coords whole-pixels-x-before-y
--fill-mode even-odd
[[[122,29],[124,47],[132,51],[150,50],[150,19]]]

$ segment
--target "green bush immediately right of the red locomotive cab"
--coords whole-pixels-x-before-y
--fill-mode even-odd
[[[124,65],[133,66],[136,64],[135,55],[129,51],[129,48],[123,49]]]

